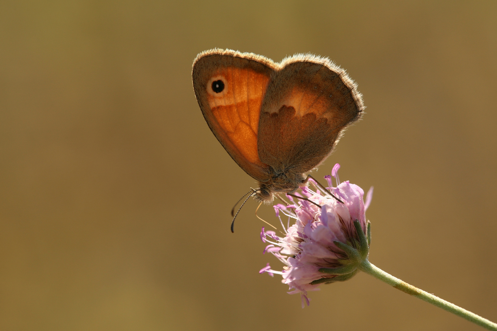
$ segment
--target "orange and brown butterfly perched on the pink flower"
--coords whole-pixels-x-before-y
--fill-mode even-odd
[[[253,53],[212,49],[197,55],[193,89],[207,125],[270,202],[292,194],[360,119],[362,95],[345,70],[310,54],[280,63]]]

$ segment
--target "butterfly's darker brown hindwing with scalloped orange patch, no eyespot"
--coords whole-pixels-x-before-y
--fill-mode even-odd
[[[328,59],[296,55],[284,60],[261,108],[261,162],[277,173],[312,170],[331,154],[363,108],[355,83]]]

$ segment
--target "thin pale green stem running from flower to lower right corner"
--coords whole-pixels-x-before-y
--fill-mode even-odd
[[[367,259],[362,261],[362,263],[359,265],[359,269],[366,273],[369,273],[370,275],[378,278],[379,280],[384,281],[387,284],[392,285],[393,287],[403,292],[406,292],[407,294],[410,294],[412,296],[415,296],[416,298],[429,302],[432,305],[445,309],[446,311],[455,314],[457,316],[460,316],[479,326],[482,326],[485,329],[497,331],[496,323],[484,319],[483,317],[478,316],[470,311],[467,311],[466,309],[463,309],[459,306],[456,306],[448,301],[442,300],[433,294],[430,294],[417,287],[414,287],[413,285],[410,285],[405,281],[402,281],[399,278],[396,278],[391,274],[383,271],[379,267],[372,265]]]

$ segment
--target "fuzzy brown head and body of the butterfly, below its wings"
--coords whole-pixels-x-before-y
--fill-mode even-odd
[[[255,199],[269,203],[273,201],[274,194],[293,193],[304,185],[304,174],[295,172],[275,172],[267,182],[259,182],[259,189],[255,192]]]

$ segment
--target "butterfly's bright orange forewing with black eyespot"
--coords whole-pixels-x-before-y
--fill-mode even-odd
[[[267,181],[257,152],[262,100],[274,63],[261,56],[210,50],[193,63],[193,88],[205,121],[230,156],[252,178]]]

